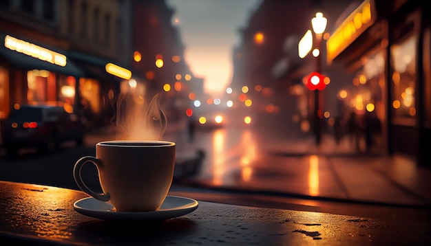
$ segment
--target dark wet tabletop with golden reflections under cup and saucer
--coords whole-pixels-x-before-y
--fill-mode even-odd
[[[160,222],[112,222],[76,212],[87,194],[0,181],[0,241],[32,245],[428,245],[428,224],[199,201]],[[193,197],[191,197],[193,198]]]

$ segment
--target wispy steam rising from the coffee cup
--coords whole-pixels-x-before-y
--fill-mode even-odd
[[[129,85],[127,85],[129,86]],[[117,140],[160,140],[167,127],[167,118],[160,107],[157,93],[147,102],[140,88],[120,88],[116,100],[115,125]]]

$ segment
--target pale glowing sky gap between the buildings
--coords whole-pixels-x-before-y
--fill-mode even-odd
[[[224,93],[233,74],[232,52],[238,30],[261,0],[167,0],[175,10],[185,44],[185,60],[195,76],[204,78],[204,90]]]

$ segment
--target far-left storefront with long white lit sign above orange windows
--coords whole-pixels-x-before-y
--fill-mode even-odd
[[[25,38],[0,34],[0,118],[13,104],[51,104],[77,109],[83,71],[59,51]]]

